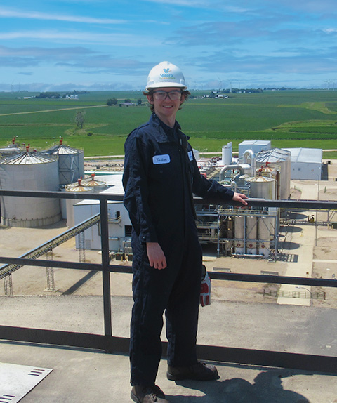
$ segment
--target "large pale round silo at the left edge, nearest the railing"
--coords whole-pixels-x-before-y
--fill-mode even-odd
[[[0,161],[4,190],[58,191],[58,159],[22,152]],[[1,197],[1,222],[13,227],[39,227],[60,220],[60,202],[53,198]]]

